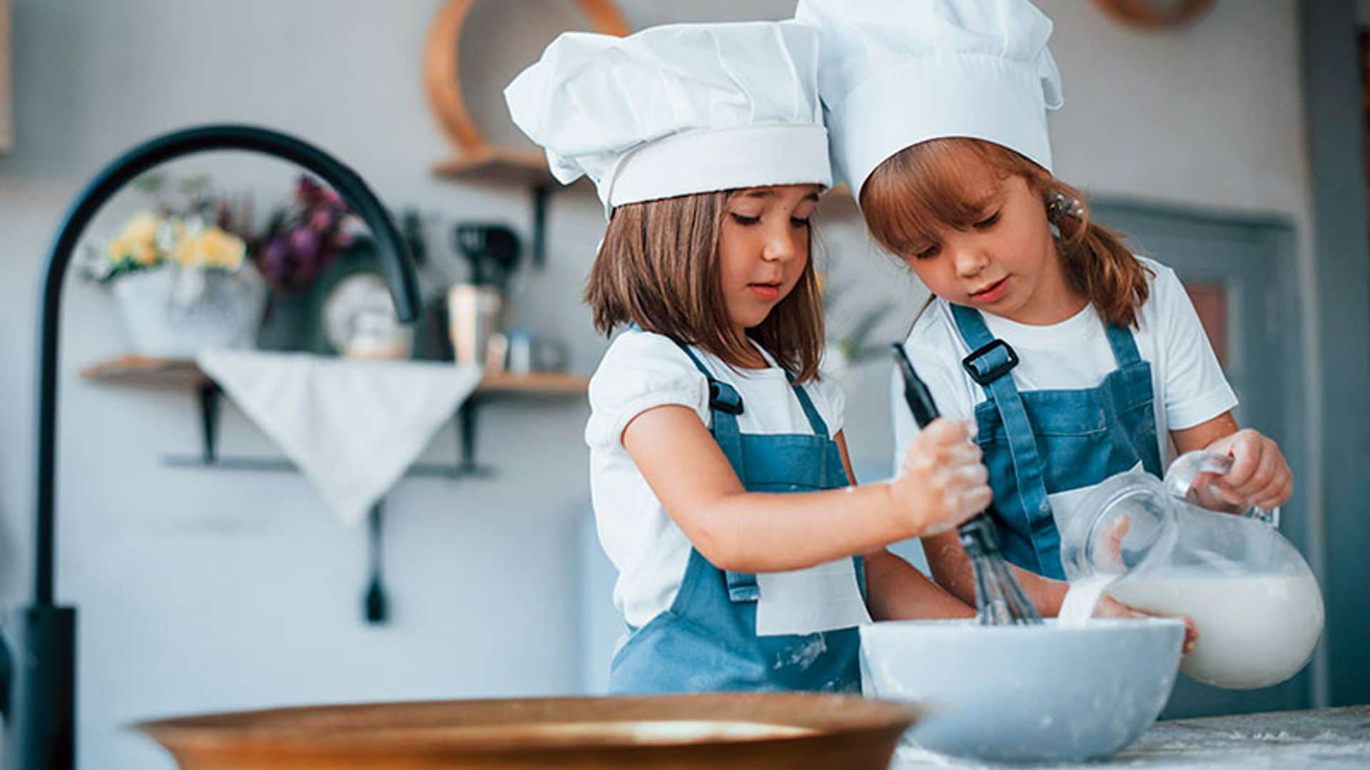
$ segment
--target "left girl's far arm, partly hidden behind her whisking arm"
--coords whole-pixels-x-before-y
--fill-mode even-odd
[[[847,478],[856,482],[847,437],[837,433],[837,448],[843,454]],[[975,610],[947,593],[888,548],[877,548],[864,555],[866,606],[875,621],[912,621],[925,618],[974,618]]]

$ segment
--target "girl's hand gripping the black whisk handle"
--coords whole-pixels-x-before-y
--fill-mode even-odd
[[[907,537],[947,532],[984,511],[993,493],[966,422],[938,418],[918,432],[889,482]]]

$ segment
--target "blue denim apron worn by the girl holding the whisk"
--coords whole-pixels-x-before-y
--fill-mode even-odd
[[[808,393],[793,385],[814,433],[752,434],[737,430],[743,399],[708,378],[710,432],[748,492],[814,492],[849,484],[837,443]],[[860,556],[856,582],[866,596]],[[610,692],[823,691],[860,692],[855,628],[792,636],[756,636],[755,574],[725,573],[690,548],[670,608],[632,636],[610,665]]]

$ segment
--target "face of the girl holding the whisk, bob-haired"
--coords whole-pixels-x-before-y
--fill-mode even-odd
[[[759,325],[799,282],[808,263],[808,219],[819,185],[748,188],[723,207],[718,256],[733,330]]]

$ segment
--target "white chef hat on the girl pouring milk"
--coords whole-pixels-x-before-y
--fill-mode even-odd
[[[1028,0],[799,0],[819,34],[833,166],[852,195],[892,155],[970,137],[1051,170],[1051,19]]]

